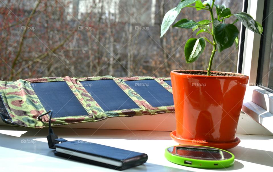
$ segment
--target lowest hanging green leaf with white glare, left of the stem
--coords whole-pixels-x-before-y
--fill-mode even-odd
[[[206,41],[204,38],[190,38],[184,48],[187,63],[192,63],[198,59],[205,49]]]

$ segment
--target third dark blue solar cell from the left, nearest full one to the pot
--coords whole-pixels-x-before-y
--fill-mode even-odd
[[[173,95],[154,79],[125,81],[154,107],[173,106]]]

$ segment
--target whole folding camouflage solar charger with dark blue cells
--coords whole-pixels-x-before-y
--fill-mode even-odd
[[[95,122],[109,117],[174,112],[169,77],[46,77],[0,80],[0,116],[23,127]],[[90,124],[92,125],[92,124]]]

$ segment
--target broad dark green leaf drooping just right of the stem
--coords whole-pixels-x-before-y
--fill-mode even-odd
[[[213,21],[214,25],[214,37],[218,50],[221,52],[228,47],[231,47],[235,38],[239,34],[239,30],[233,24],[225,24],[219,22],[217,19]]]

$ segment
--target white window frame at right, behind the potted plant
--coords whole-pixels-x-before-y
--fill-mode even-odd
[[[256,21],[262,23],[264,0],[249,0],[247,7],[247,13],[250,14]],[[257,123],[265,127],[268,131],[273,133],[273,112],[270,110],[270,103],[271,106],[273,104],[273,94],[261,87],[256,86],[260,40],[260,35],[246,29],[242,73],[249,76],[249,82],[245,93],[242,111],[249,115]],[[241,47],[240,45],[241,43],[239,43],[239,47]],[[250,127],[253,126],[251,125]],[[268,134],[268,132],[261,130],[259,134]]]

